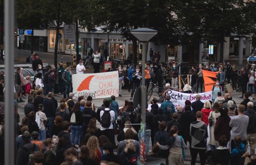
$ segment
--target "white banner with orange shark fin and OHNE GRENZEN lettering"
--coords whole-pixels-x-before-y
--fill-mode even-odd
[[[118,71],[73,74],[73,93],[76,97],[92,96],[93,98],[107,98],[112,95],[119,95]]]

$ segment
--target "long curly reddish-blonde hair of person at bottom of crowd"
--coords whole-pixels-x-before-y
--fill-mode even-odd
[[[99,149],[98,138],[96,136],[91,136],[86,146],[89,148],[90,151],[89,157],[94,160],[99,159],[97,156],[97,149]]]

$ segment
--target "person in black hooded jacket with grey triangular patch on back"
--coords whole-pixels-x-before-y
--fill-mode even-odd
[[[205,164],[206,160],[206,139],[208,137],[207,126],[202,122],[202,113],[198,111],[196,113],[197,121],[190,124],[190,136],[191,136],[191,165],[196,164],[197,154],[200,156],[201,165]],[[198,131],[200,133],[198,133]]]

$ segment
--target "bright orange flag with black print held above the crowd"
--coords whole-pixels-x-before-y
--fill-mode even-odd
[[[217,80],[217,74],[219,72],[211,72],[207,70],[203,70],[203,77],[204,77],[204,90],[205,92],[209,92],[212,89],[212,86],[215,85]]]

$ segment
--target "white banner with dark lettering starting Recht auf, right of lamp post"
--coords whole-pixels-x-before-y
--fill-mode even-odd
[[[204,92],[204,93],[182,93],[173,90],[168,90],[167,94],[170,95],[170,101],[173,102],[175,108],[177,106],[185,106],[185,101],[189,100],[191,103],[196,101],[196,95],[201,95],[201,101],[205,102],[206,100],[211,100],[212,91]]]

